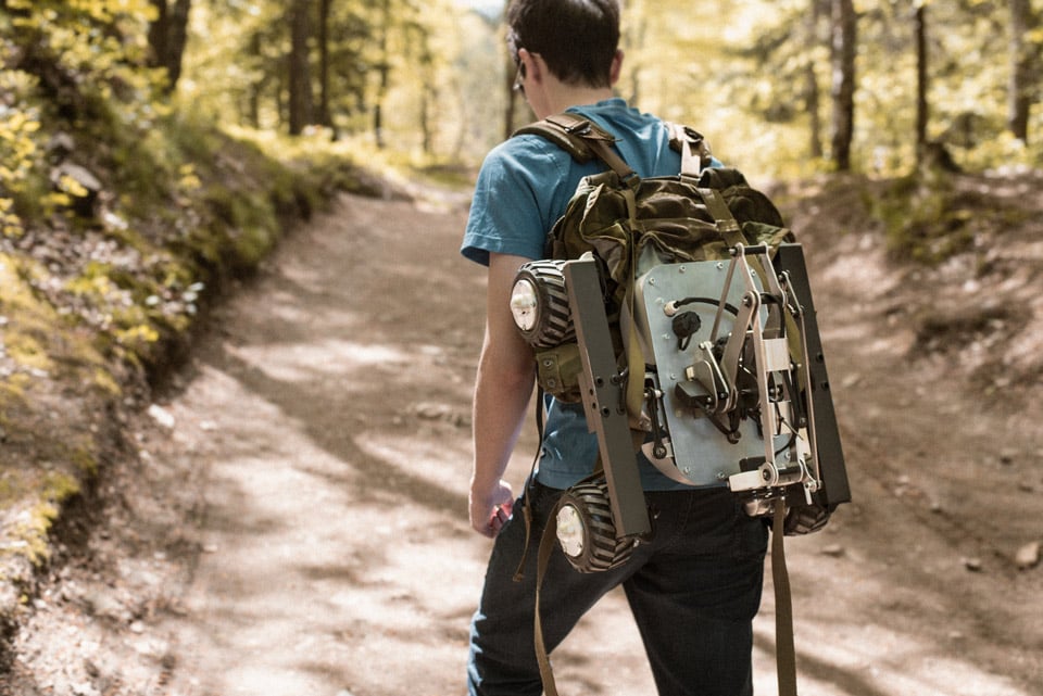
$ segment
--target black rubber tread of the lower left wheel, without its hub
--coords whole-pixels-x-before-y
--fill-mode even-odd
[[[630,559],[634,542],[632,539],[616,539],[616,526],[612,521],[608,503],[608,484],[604,480],[568,489],[562,494],[557,509],[565,505],[571,505],[579,512],[587,539],[579,556],[565,554],[573,568],[579,572],[602,572]]]

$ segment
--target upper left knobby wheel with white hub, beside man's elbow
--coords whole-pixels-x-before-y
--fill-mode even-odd
[[[532,261],[514,279],[511,312],[522,337],[535,349],[555,347],[576,338],[563,266],[561,261]]]

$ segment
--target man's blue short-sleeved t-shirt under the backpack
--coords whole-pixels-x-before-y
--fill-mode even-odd
[[[619,141],[616,150],[642,178],[673,176],[681,166],[670,149],[669,130],[661,119],[631,109],[623,99],[573,107]],[[565,212],[579,180],[605,169],[599,161],[579,164],[571,155],[535,136],[517,136],[486,156],[478,173],[475,197],[461,253],[489,264],[490,253],[543,258],[548,231]],[[587,429],[581,404],[563,404],[548,396],[548,416],[537,479],[566,489],[593,470],[598,440]],[[638,457],[641,482],[648,491],[688,488]]]

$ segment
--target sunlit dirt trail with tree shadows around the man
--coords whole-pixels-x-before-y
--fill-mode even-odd
[[[219,309],[136,425],[125,523],[45,593],[11,693],[462,693],[490,544],[466,521],[485,278],[456,253],[463,210],[345,197]],[[984,441],[956,426],[966,396],[895,359],[909,331],[871,333],[894,289],[812,266],[857,502],[788,543],[804,693],[1043,694],[1043,573],[1009,561],[1041,535],[1043,443],[1003,414],[968,421],[996,429]],[[976,503],[985,474],[1022,482],[1018,515]],[[768,580],[758,694],[776,693],[772,622]],[[555,658],[563,694],[654,693],[621,596]]]

